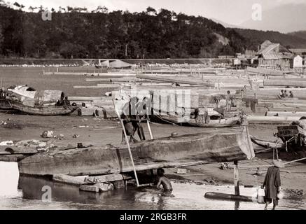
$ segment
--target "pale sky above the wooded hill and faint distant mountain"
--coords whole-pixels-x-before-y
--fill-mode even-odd
[[[29,6],[44,6],[57,9],[59,6],[79,6],[89,10],[97,6],[106,6],[109,10],[129,10],[140,12],[148,6],[159,10],[166,8],[176,13],[202,15],[231,25],[240,25],[251,19],[252,6],[259,3],[263,11],[287,3],[306,3],[306,0],[11,0]]]

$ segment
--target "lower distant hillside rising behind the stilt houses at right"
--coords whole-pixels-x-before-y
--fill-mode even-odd
[[[238,29],[235,31],[244,38],[249,38],[250,45],[263,43],[265,40],[270,40],[273,43],[281,43],[285,47],[290,48],[306,48],[306,39],[300,36],[292,36],[288,34],[281,34],[278,31],[259,31],[255,29]]]

